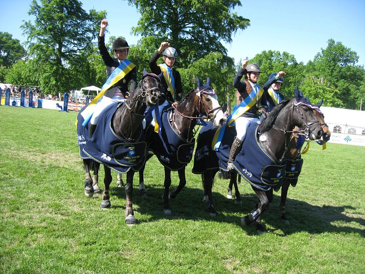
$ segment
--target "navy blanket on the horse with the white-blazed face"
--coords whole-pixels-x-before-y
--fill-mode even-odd
[[[171,126],[169,117],[172,109],[161,113],[161,130],[153,133],[148,150],[152,151],[160,163],[170,170],[182,169],[193,157],[195,139],[187,142]]]

